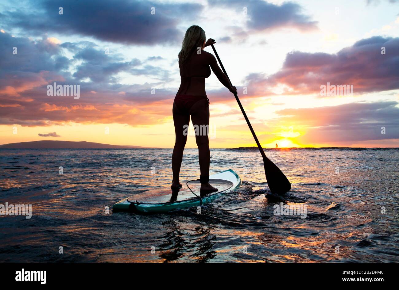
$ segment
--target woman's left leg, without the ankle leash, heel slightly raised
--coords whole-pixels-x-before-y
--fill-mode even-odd
[[[176,105],[173,104],[173,123],[175,127],[176,140],[172,154],[172,189],[182,186],[179,180],[180,167],[182,166],[184,146],[186,146],[187,134],[184,135],[184,125],[190,123],[190,115],[182,115],[178,113]]]

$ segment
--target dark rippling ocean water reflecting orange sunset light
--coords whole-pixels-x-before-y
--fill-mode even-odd
[[[168,188],[172,149],[0,149],[0,204],[32,204],[31,219],[0,216],[0,261],[399,262],[399,149],[265,152],[292,184],[281,200],[265,198],[256,148],[211,149],[211,173],[233,169],[241,188],[201,214],[138,215],[111,208]],[[197,154],[184,151],[182,183]],[[281,204],[306,218],[276,215]]]

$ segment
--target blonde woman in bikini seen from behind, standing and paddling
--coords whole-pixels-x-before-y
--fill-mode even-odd
[[[209,38],[206,43],[205,40],[205,31],[201,27],[193,25],[187,29],[182,50],[179,53],[181,83],[173,103],[176,141],[172,155],[172,189],[182,187],[179,181],[179,173],[184,146],[187,141],[187,126],[190,122],[190,115],[194,126],[209,128],[209,99],[205,93],[205,78],[211,75],[211,69],[230,92],[237,93],[237,89],[230,85],[229,79],[217,65],[215,57],[203,50],[208,45],[216,43],[215,40]],[[199,179],[201,192],[212,192],[217,191],[217,188],[209,184],[209,130],[205,131],[196,131],[199,168],[201,170]]]

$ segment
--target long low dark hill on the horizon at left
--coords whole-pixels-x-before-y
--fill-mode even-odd
[[[126,148],[149,148],[141,146],[124,146],[124,145],[109,145],[95,142],[86,141],[30,141],[30,142],[19,142],[0,145],[0,149],[126,149]]]

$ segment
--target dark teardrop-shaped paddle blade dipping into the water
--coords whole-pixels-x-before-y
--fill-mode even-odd
[[[263,164],[265,165],[266,180],[270,191],[277,194],[284,194],[290,191],[291,184],[279,167],[267,157],[263,158]]]

